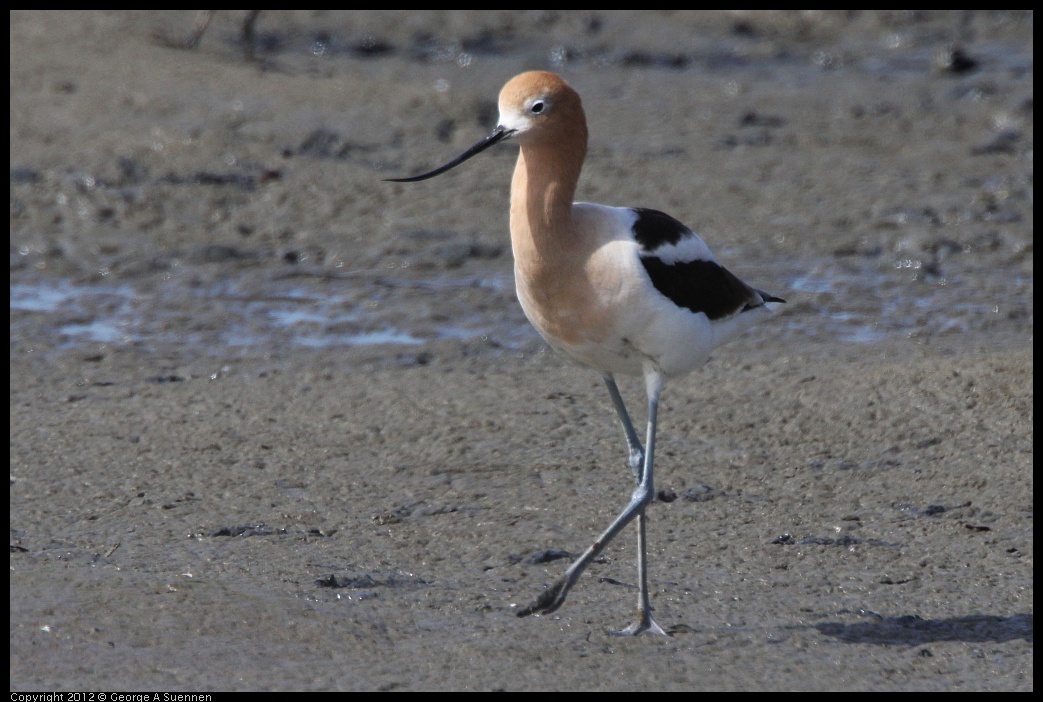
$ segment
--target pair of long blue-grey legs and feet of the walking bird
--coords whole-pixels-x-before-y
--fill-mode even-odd
[[[633,456],[636,447],[637,452],[639,452],[642,455],[641,457],[645,459],[644,467],[638,477],[639,480],[637,487],[634,489],[633,494],[630,495],[630,504],[628,504],[627,508],[624,509],[617,517],[615,517],[615,521],[609,525],[608,529],[606,529],[605,532],[598,537],[598,540],[595,541],[589,549],[584,551],[583,554],[568,566],[565,574],[556,583],[554,583],[554,585],[543,590],[534,603],[518,611],[517,615],[528,616],[530,614],[549,614],[564,604],[568,590],[571,590],[573,585],[576,584],[576,581],[579,580],[583,571],[585,571],[590,562],[597,558],[602,551],[604,551],[605,547],[609,544],[615,535],[636,517],[638,521],[637,608],[639,619],[623,631],[612,633],[632,636],[634,634],[648,631],[650,633],[666,635],[666,632],[663,631],[662,628],[655,623],[655,620],[652,619],[652,606],[649,602],[648,568],[645,562],[647,551],[645,539],[645,508],[652,502],[652,498],[655,494],[652,474],[652,459],[653,446],[655,445],[656,411],[659,408],[659,393],[662,390],[662,378],[658,372],[654,371],[649,371],[646,378],[646,385],[649,392],[649,426],[648,439],[646,441],[647,449],[645,451],[641,451],[640,449],[640,441],[637,439],[637,434],[634,432],[633,426],[630,423],[630,418],[627,415],[626,407],[623,405],[623,400],[620,397],[620,390],[615,386],[615,381],[611,380],[610,376],[606,376],[605,382],[608,385],[609,394],[612,395],[612,402],[616,406],[616,412],[620,414],[620,419],[623,421],[623,429],[627,433],[627,443],[630,446],[631,456]]]

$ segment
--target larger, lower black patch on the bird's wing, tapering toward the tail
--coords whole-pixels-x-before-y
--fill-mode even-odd
[[[640,259],[656,290],[678,307],[702,312],[710,319],[745,312],[765,301],[781,301],[758,293],[714,261],[668,264],[654,256]]]

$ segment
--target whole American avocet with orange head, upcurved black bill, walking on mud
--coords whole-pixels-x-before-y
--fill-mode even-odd
[[[630,504],[518,616],[556,610],[583,571],[637,519],[638,619],[618,634],[665,634],[652,618],[646,565],[645,509],[655,497],[652,465],[656,410],[668,379],[702,366],[710,352],[784,300],[755,290],[719,264],[695,233],[673,217],[642,208],[574,202],[587,148],[579,94],[554,73],[532,71],[500,92],[500,124],[433,171],[434,177],[493,144],[520,145],[511,183],[514,283],[529,321],[554,348],[600,370],[623,425],[637,487]],[[644,377],[648,392],[645,447],[614,376]]]

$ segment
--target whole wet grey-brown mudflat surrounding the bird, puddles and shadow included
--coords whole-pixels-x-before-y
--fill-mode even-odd
[[[1033,15],[11,13],[10,687],[1033,688]],[[669,386],[650,575],[597,373],[513,298],[580,197],[789,301]],[[635,418],[641,390],[623,383]]]

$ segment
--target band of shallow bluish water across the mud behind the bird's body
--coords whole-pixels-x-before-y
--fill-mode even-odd
[[[773,324],[787,343],[832,339],[873,344],[923,335],[1030,334],[1022,325],[1032,310],[1033,281],[997,271],[943,277],[920,260],[851,262],[776,261],[758,266],[749,280],[772,281],[772,291],[787,299]],[[368,280],[367,280],[368,279]],[[72,283],[42,279],[10,286],[10,340],[47,345],[143,342],[187,344],[221,356],[228,347],[289,345],[308,347],[407,345],[441,340],[490,340],[503,348],[531,347],[538,337],[513,299],[512,281],[498,277],[356,276],[349,292],[316,290],[299,281],[256,277],[163,294],[138,291],[131,284]],[[330,286],[334,288],[335,286]],[[495,305],[468,309],[457,291],[477,289]],[[415,304],[417,292],[455,311],[453,319],[432,321]],[[998,294],[994,294],[998,293]],[[186,318],[184,296],[195,314]],[[378,301],[379,300],[379,301]],[[507,313],[505,314],[505,310]],[[15,313],[21,314],[15,314]],[[207,314],[214,315],[203,323]],[[189,329],[186,329],[188,324]],[[215,329],[216,325],[216,329]],[[194,328],[194,331],[193,331]],[[1030,336],[1024,341],[1030,341]]]

